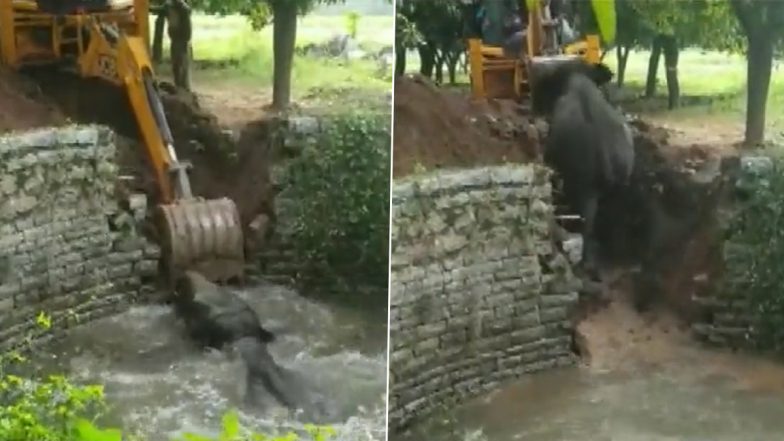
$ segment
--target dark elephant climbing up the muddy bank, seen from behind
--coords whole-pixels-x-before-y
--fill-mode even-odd
[[[544,161],[560,176],[567,205],[583,218],[583,267],[599,280],[596,212],[603,196],[628,187],[634,139],[624,115],[599,90],[612,78],[606,66],[579,61],[550,69],[532,93],[532,108],[550,120]]]

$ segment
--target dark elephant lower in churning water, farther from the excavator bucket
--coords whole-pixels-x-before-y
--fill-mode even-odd
[[[335,406],[316,393],[302,375],[278,365],[267,345],[252,337],[234,343],[246,367],[247,405],[266,410],[274,402],[293,412],[302,412],[309,423],[335,421]]]

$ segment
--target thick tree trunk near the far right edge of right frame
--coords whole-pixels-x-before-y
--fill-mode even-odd
[[[747,98],[745,144],[757,145],[765,140],[765,110],[773,67],[773,36],[766,32],[748,36]]]

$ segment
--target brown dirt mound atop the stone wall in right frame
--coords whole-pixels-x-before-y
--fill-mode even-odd
[[[426,169],[525,162],[537,147],[511,101],[472,102],[419,76],[395,81],[396,177]]]

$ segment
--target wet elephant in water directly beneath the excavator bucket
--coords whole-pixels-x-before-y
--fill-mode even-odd
[[[243,337],[265,344],[275,340],[244,300],[195,271],[177,277],[174,307],[190,337],[204,348],[220,350]]]

